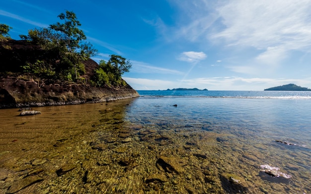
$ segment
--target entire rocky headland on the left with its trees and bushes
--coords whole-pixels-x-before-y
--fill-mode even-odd
[[[48,28],[28,30],[22,40],[9,37],[0,24],[0,108],[80,104],[137,97],[122,74],[132,64],[110,55],[99,65],[97,50],[86,42],[72,11]]]

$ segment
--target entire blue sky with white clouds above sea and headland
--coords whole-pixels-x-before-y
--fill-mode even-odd
[[[66,10],[136,90],[311,88],[311,0],[5,0],[0,23],[19,40]]]

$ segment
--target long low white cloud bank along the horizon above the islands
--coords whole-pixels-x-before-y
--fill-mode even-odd
[[[302,87],[311,85],[310,79],[273,79],[243,77],[206,77],[176,81],[123,77],[136,90],[166,90],[167,88],[199,88],[208,90],[257,90],[294,83]],[[310,88],[310,87],[309,87]]]

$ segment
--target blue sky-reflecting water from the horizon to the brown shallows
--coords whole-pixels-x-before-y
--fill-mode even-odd
[[[220,127],[213,129],[217,132],[245,128],[238,134],[247,135],[250,130],[258,137],[299,141],[311,148],[311,92],[138,92],[141,97],[129,110],[131,120],[167,120],[180,125],[213,123]]]

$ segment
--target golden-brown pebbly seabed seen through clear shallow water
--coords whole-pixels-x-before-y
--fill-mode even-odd
[[[284,168],[261,168],[266,156],[230,134],[125,121],[131,100],[37,107],[42,114],[27,117],[0,110],[0,194],[310,192],[291,187],[300,180]]]

